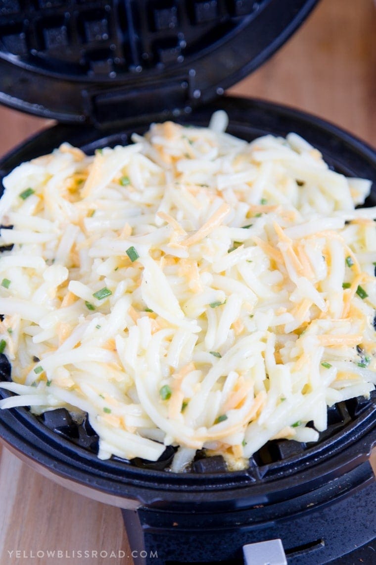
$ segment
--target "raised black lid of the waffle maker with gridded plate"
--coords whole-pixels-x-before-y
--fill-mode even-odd
[[[179,115],[259,67],[317,0],[5,0],[0,103],[96,127]]]

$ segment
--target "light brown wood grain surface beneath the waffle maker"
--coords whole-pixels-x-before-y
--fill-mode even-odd
[[[306,110],[376,146],[373,0],[321,0],[289,43],[230,92]],[[47,125],[0,108],[0,155]],[[38,558],[38,550],[68,553]],[[90,551],[90,558],[73,558],[78,550]],[[125,557],[110,557],[112,551]],[[0,446],[0,564],[26,563],[128,565],[132,558],[119,509],[44,479]]]

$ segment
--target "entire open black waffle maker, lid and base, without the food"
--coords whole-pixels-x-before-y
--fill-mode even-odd
[[[376,153],[313,116],[262,101],[224,97],[302,23],[315,0],[3,0],[0,102],[59,125],[0,162],[20,162],[63,141],[87,153],[127,144],[154,120],[206,126],[213,111],[247,141],[294,131],[330,167],[374,181]],[[10,365],[0,356],[0,379]],[[0,398],[11,393],[0,390]],[[0,412],[5,445],[43,475],[122,509],[138,565],[374,563],[376,397],[328,409],[315,444],[269,441],[247,470],[197,452],[187,472],[160,460],[99,460],[98,436],[65,409]]]

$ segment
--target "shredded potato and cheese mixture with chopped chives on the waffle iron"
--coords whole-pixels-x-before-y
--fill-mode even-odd
[[[99,458],[230,470],[376,383],[376,208],[297,134],[153,124],[21,164],[0,201],[1,408],[89,414]],[[309,421],[313,426],[306,427]]]

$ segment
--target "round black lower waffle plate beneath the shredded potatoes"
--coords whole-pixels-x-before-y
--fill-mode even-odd
[[[228,131],[247,141],[266,133],[285,136],[294,131],[302,135],[338,172],[373,180],[366,205],[375,202],[376,154],[346,132],[290,108],[236,98],[224,98],[209,107],[202,107],[180,121],[205,126],[211,113],[218,108],[228,112]],[[142,133],[148,125],[144,116],[132,127],[108,131],[105,136],[100,136],[94,127],[59,125],[7,155],[0,163],[1,175],[6,175],[20,162],[49,153],[63,141],[92,153],[100,147],[126,144],[132,132]],[[2,370],[2,378],[7,379],[4,357]],[[8,394],[0,390],[0,397]],[[287,440],[268,442],[251,458],[248,470],[232,473],[225,472],[221,463],[213,463],[211,458],[198,459],[191,472],[176,475],[163,471],[163,464],[145,468],[142,461],[126,462],[116,458],[101,461],[95,455],[98,438],[90,426],[86,422],[77,426],[64,411],[55,411],[55,415],[47,412],[41,418],[36,418],[26,408],[1,411],[0,436],[52,473],[100,490],[110,497],[138,498],[144,502],[157,498],[213,504],[224,500],[238,504],[240,499],[248,499],[256,503],[277,501],[285,498],[286,493],[293,496],[306,492],[315,484],[338,477],[368,459],[375,441],[375,415],[373,394],[370,399],[359,397],[338,403],[329,409],[328,429],[321,433],[316,444]]]

